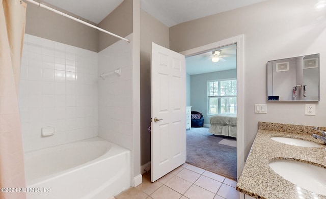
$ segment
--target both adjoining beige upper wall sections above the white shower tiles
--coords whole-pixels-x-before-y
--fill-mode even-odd
[[[132,0],[125,0],[110,15],[105,17],[98,26],[121,37],[131,34],[133,32],[132,4]],[[67,11],[61,11],[87,21]],[[90,21],[87,22],[97,25]],[[99,52],[119,41],[116,37],[99,32],[92,27],[33,4],[28,4],[27,7],[25,33],[94,52]]]

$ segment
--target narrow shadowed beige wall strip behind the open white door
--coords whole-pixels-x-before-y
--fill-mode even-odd
[[[141,165],[151,161],[151,139],[147,131],[151,125],[150,55],[152,42],[169,48],[169,27],[141,10]]]

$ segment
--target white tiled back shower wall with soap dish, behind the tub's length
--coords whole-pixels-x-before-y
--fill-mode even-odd
[[[97,136],[98,53],[25,34],[19,87],[24,151]],[[55,134],[41,136],[42,127]]]

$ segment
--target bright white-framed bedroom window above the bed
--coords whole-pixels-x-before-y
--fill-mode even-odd
[[[236,79],[207,82],[208,114],[236,113]]]

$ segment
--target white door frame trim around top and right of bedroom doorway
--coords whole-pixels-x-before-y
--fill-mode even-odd
[[[179,52],[186,57],[207,52],[223,46],[236,44],[236,80],[237,80],[237,128],[236,128],[236,156],[237,156],[237,179],[239,179],[244,167],[244,35],[238,35],[225,40],[217,41],[193,49]]]

